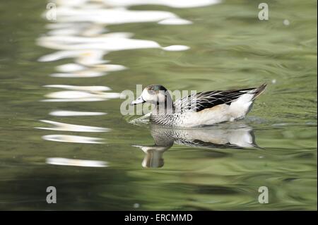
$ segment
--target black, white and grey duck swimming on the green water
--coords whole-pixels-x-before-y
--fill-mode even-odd
[[[148,85],[131,105],[152,104],[151,123],[177,128],[211,126],[245,118],[266,86],[264,83],[259,87],[239,90],[192,93],[173,102],[170,92],[163,85]]]

